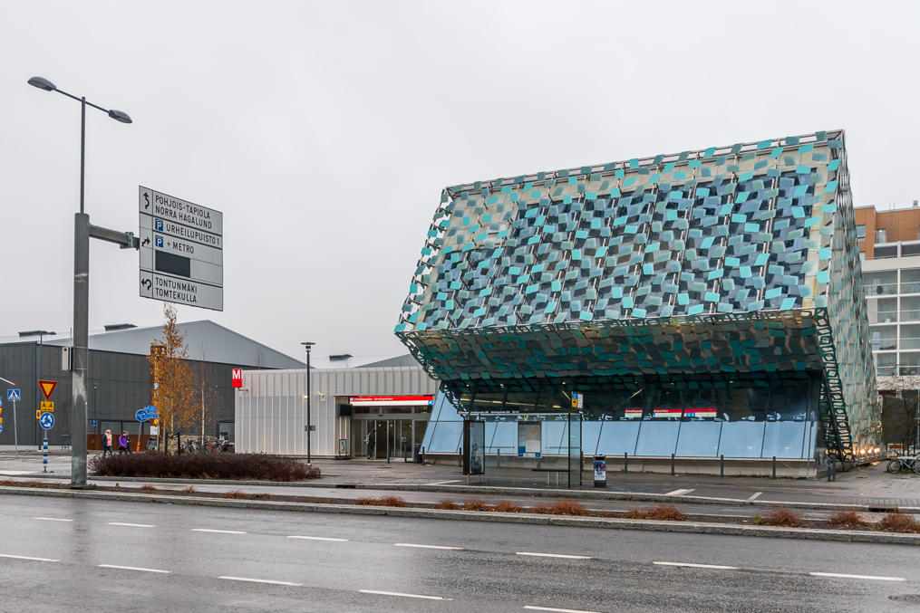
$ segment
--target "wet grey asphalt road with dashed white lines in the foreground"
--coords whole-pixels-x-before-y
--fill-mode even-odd
[[[920,595],[915,560],[890,545],[14,495],[0,505],[0,611],[920,610],[902,599]],[[675,565],[688,563],[701,566]]]

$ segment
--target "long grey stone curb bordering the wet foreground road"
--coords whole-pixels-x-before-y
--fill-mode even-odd
[[[0,487],[0,494],[50,496],[56,498],[83,498],[93,500],[118,500],[121,502],[159,503],[165,505],[217,506],[267,511],[300,511],[303,513],[340,513],[363,516],[414,517],[420,519],[453,519],[460,521],[490,521],[504,524],[530,524],[537,526],[568,526],[576,528],[608,528],[648,530],[653,532],[684,532],[727,536],[772,537],[780,539],[828,540],[838,542],[882,543],[920,545],[920,535],[899,533],[862,532],[857,530],[829,530],[823,528],[774,528],[767,526],[741,526],[705,522],[659,521],[654,519],[624,519],[618,517],[566,517],[534,515],[529,513],[490,513],[482,511],[444,511],[440,509],[399,508],[393,506],[319,505],[315,503],[289,503],[232,498],[206,498],[198,496],[169,496],[163,494],[127,494],[121,492],[87,492],[84,490],[41,490],[36,488]]]

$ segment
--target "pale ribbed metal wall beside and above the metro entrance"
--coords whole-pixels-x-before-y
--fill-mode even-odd
[[[333,456],[337,438],[336,396],[433,394],[437,382],[420,367],[314,369],[310,380],[310,440],[316,456]],[[236,450],[306,455],[306,371],[244,370],[236,391]]]

